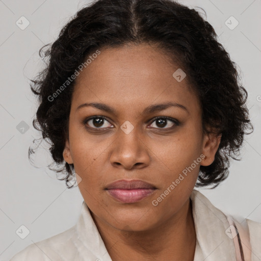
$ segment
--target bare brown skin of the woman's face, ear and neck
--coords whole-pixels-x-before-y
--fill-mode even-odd
[[[79,189],[113,261],[193,260],[196,233],[190,195],[200,165],[213,163],[220,137],[203,134],[199,100],[187,77],[181,82],[173,78],[179,66],[161,50],[140,44],[100,51],[76,79],[64,160],[73,163],[81,177]],[[142,113],[170,101],[187,111],[169,107]],[[90,102],[106,103],[116,115],[90,106],[77,110]],[[84,124],[91,116],[109,120],[100,127],[93,120]],[[157,116],[180,124],[167,120],[162,126]],[[134,127],[129,134],[120,128],[125,121]],[[201,154],[206,158],[152,205]],[[157,189],[139,202],[121,203],[105,190],[119,179],[141,179]]]

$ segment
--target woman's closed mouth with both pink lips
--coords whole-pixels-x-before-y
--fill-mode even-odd
[[[107,186],[105,190],[119,202],[135,203],[153,194],[156,187],[140,179],[121,179]]]

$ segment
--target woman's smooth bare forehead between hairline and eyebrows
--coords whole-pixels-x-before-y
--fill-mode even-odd
[[[181,82],[173,77],[179,65],[150,45],[100,49],[90,61],[76,78],[72,105],[95,101],[126,108],[173,101],[198,106],[186,77]]]

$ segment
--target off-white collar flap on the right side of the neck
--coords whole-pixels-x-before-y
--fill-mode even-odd
[[[190,198],[197,237],[194,261],[236,260],[233,240],[225,233],[229,227],[225,214],[197,190]]]

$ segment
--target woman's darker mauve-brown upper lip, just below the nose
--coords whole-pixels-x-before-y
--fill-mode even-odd
[[[120,179],[109,184],[106,187],[106,189],[107,190],[110,189],[131,190],[131,189],[156,189],[156,188],[152,184],[149,184],[148,182],[143,181],[141,179],[132,179],[132,180]]]

